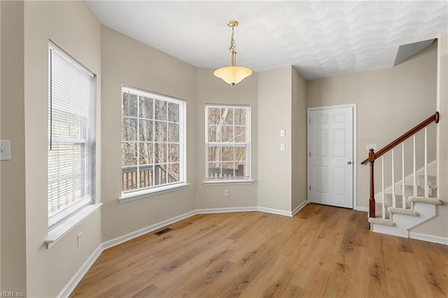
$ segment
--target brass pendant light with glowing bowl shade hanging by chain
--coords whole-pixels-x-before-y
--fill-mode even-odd
[[[232,27],[232,38],[230,38],[230,62],[231,66],[222,67],[221,69],[216,69],[214,71],[214,75],[218,78],[222,78],[225,83],[228,83],[232,86],[238,84],[244,78],[251,76],[252,71],[246,67],[236,66],[237,52],[235,52],[235,43],[234,35],[235,35],[235,27],[238,26],[237,21],[228,22],[228,26]]]

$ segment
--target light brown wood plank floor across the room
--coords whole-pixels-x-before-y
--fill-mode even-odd
[[[447,297],[448,246],[376,234],[366,213],[195,215],[105,250],[71,297]]]

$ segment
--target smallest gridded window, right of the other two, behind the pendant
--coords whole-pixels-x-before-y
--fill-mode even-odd
[[[206,180],[249,180],[248,106],[206,106]]]

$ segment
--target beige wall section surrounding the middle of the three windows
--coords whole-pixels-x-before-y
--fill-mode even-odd
[[[196,69],[102,27],[102,72],[102,241],[108,241],[195,209]],[[186,100],[187,180],[192,183],[187,189],[118,202],[122,85]]]

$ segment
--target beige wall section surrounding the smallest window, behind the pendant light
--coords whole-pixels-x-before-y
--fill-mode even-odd
[[[230,86],[213,75],[212,69],[197,69],[196,106],[196,208],[227,208],[257,205],[257,182],[251,185],[203,185],[205,180],[205,104],[235,104],[251,107],[251,173],[258,180],[258,73]],[[224,197],[224,190],[230,197]]]

